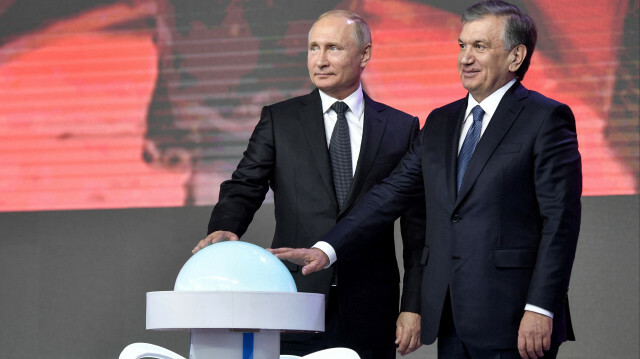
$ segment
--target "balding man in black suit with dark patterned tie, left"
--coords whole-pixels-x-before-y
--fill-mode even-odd
[[[276,216],[273,246],[312,246],[389,175],[417,136],[419,123],[362,91],[371,46],[369,27],[358,15],[333,10],[318,18],[309,32],[307,56],[317,89],[263,108],[237,170],[220,187],[210,234],[194,252],[220,240],[238,240],[269,187]],[[298,291],[326,295],[326,328],[314,335],[283,334],[283,354],[348,347],[363,359],[391,359],[396,345],[401,354],[420,346],[424,204],[421,196],[414,203],[401,222],[407,253],[402,303],[392,219],[367,237],[369,245],[351,261],[308,277],[289,265]]]

